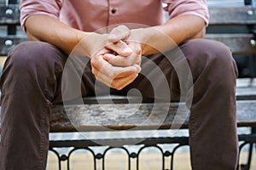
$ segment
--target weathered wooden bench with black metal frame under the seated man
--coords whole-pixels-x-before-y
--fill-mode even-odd
[[[209,39],[218,40],[228,45],[235,55],[249,55],[256,54],[256,37],[253,30],[256,24],[255,8],[250,5],[250,1],[246,1],[247,5],[243,7],[212,7],[210,8],[211,20],[210,25],[207,28],[207,37]],[[24,34],[20,33],[19,15],[20,11],[17,1],[9,1],[9,5],[0,3],[0,56],[6,56],[8,52],[15,48],[15,46],[26,41]],[[14,4],[11,4],[14,3]],[[229,26],[243,27],[244,32],[230,33]],[[218,29],[216,29],[218,27]],[[220,27],[224,27],[220,28]],[[226,29],[228,28],[228,29]],[[211,30],[212,29],[212,30]],[[224,32],[219,33],[220,30]],[[217,30],[217,31],[216,31]],[[215,31],[215,32],[214,32]],[[211,32],[211,33],[210,33]],[[153,103],[138,103],[137,99],[127,99],[126,97],[112,96],[112,101],[116,104],[113,108],[112,104],[109,104],[109,96],[103,96],[102,98],[84,98],[84,105],[54,105],[52,108],[50,119],[50,132],[51,133],[67,133],[76,132],[79,128],[80,131],[111,131],[111,130],[163,130],[170,129],[170,127],[181,127],[183,129],[188,128],[188,116],[187,112],[181,112],[180,116],[176,116],[176,124],[173,123],[173,118],[177,111],[177,104],[153,104]],[[249,155],[247,163],[241,165],[242,169],[249,169],[251,159],[253,143],[256,143],[256,86],[239,88],[237,87],[236,94],[237,103],[237,127],[250,127],[252,132],[249,134],[240,134],[239,140],[243,141],[241,148],[249,144]],[[100,103],[100,104],[98,104]],[[168,114],[164,121],[160,119],[163,112],[163,105],[167,105]],[[153,110],[154,107],[154,110]],[[115,118],[109,118],[104,111],[112,111],[111,114]],[[131,116],[122,116],[120,111],[133,111]],[[135,112],[134,112],[135,111]],[[153,111],[153,112],[152,112]],[[148,116],[151,115],[151,117]],[[73,121],[70,121],[70,117],[74,117]],[[84,121],[88,120],[88,121]],[[149,120],[149,121],[148,121]],[[154,120],[154,121],[152,121]],[[146,122],[146,123],[142,123]],[[173,150],[166,150],[162,152],[164,158],[171,159],[171,169],[173,167],[174,153],[178,147],[189,144],[188,136],[182,137],[165,137],[165,138],[153,138],[147,139],[140,136],[128,137],[125,139],[67,139],[67,140],[51,140],[49,150],[55,153],[59,161],[59,168],[61,169],[61,162],[67,161],[67,167],[69,167],[70,156],[74,150],[86,149],[90,150],[90,146],[99,146],[102,144],[114,144],[116,147],[120,147],[125,150],[125,144],[143,144],[143,148],[146,147],[159,147],[158,144],[178,144]],[[67,154],[60,154],[56,148],[61,147],[73,147],[73,150]],[[107,150],[111,149],[109,147]],[[241,149],[240,148],[240,149]],[[96,169],[96,161],[104,161],[107,150],[104,153],[92,153],[94,160],[94,168]],[[142,149],[143,150],[143,149]],[[127,150],[125,150],[127,151]],[[131,159],[137,159],[140,152],[129,152],[129,169],[131,167]],[[102,162],[104,167],[104,162]],[[167,168],[165,161],[162,161],[162,167]]]

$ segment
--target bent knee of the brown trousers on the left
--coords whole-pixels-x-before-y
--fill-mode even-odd
[[[52,99],[65,57],[58,48],[46,42],[20,43],[9,53],[3,67],[2,93],[10,88],[13,92],[39,88],[49,100]]]

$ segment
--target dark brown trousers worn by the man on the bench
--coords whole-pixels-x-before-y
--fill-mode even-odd
[[[192,167],[235,170],[237,70],[230,49],[220,42],[202,39],[184,42],[179,48],[189,63],[194,83],[187,87],[194,90],[189,117]],[[165,73],[175,99],[180,93],[175,69],[166,64],[161,54],[148,59]],[[1,170],[45,169],[50,107],[61,102],[61,76],[66,61],[66,54],[45,42],[23,42],[9,54],[1,77]],[[142,67],[147,69],[147,62]],[[112,93],[125,94],[137,88],[144,97],[151,98],[154,93],[150,82],[140,75],[125,89],[112,89]],[[82,94],[94,95],[94,84],[89,66],[82,77]]]

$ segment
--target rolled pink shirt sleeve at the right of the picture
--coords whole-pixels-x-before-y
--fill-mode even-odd
[[[194,14],[201,17],[206,25],[209,23],[209,12],[207,0],[162,0],[167,6],[165,10],[169,13],[170,19],[178,15]]]

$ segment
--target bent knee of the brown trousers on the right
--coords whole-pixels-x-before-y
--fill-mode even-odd
[[[236,79],[238,72],[230,48],[221,42],[198,39],[184,44],[183,53],[188,59],[194,81],[202,74],[214,82]],[[208,78],[208,79],[209,79]]]

